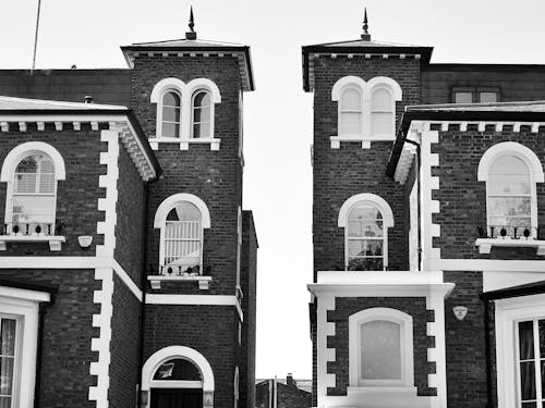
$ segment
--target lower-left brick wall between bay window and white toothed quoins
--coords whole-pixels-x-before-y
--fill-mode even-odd
[[[88,388],[96,385],[89,374],[98,354],[90,341],[98,337],[93,314],[100,312],[93,302],[94,290],[101,285],[94,270],[0,270],[0,277],[58,287],[55,304],[45,307],[39,406],[47,408],[92,408]]]

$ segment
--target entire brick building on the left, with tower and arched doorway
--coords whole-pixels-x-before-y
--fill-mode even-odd
[[[2,407],[254,407],[250,49],[190,28],[0,71]]]

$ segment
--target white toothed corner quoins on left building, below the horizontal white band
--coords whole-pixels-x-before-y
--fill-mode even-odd
[[[98,360],[89,366],[89,374],[97,376],[97,385],[89,386],[89,400],[97,408],[108,408],[108,388],[110,387],[110,341],[111,318],[113,314],[113,270],[96,269],[95,280],[101,281],[100,290],[95,290],[93,301],[100,305],[100,312],[93,314],[93,326],[99,327],[100,334],[90,341],[90,350],[98,351]]]

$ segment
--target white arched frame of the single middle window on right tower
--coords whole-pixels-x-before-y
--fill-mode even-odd
[[[391,211],[388,202],[375,194],[362,193],[356,194],[346,200],[340,210],[338,218],[338,226],[344,228],[344,269],[348,268],[349,263],[349,246],[348,246],[348,217],[355,206],[368,205],[373,206],[380,211],[383,215],[383,267],[385,270],[388,269],[388,228],[393,226],[393,212]]]

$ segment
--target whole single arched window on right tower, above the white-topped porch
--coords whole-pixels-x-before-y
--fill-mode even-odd
[[[383,271],[388,268],[388,227],[393,215],[388,203],[373,194],[349,198],[339,211],[344,227],[346,269]]]

